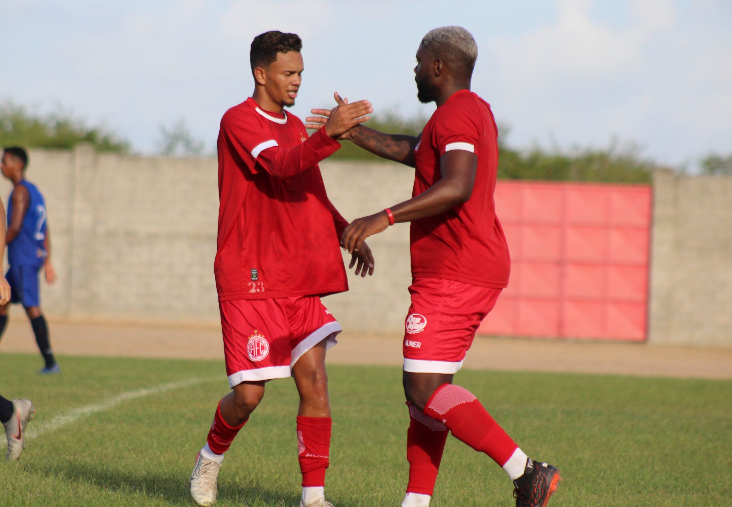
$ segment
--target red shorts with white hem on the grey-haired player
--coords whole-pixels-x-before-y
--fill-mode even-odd
[[[501,289],[442,278],[415,278],[404,322],[404,371],[455,373]]]

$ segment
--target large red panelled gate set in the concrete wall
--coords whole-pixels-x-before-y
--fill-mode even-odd
[[[479,333],[646,339],[651,187],[498,181],[509,287]]]

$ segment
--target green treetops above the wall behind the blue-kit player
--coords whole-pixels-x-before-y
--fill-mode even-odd
[[[88,127],[86,121],[70,113],[44,116],[15,102],[0,102],[0,146],[72,149],[78,143],[91,143],[98,151],[130,151],[127,140],[102,127]]]

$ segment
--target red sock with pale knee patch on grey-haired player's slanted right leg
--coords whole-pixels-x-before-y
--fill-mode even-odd
[[[485,452],[501,467],[518,448],[478,399],[460,386],[438,387],[427,402],[425,415],[440,421],[453,437],[476,451]]]

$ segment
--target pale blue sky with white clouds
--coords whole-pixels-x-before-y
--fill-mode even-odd
[[[294,31],[305,73],[292,112],[333,91],[377,112],[430,115],[414,85],[422,36],[466,27],[473,90],[509,143],[633,141],[668,165],[732,152],[729,0],[0,0],[0,99],[59,105],[152,153],[184,119],[213,149],[223,112],[251,94],[252,38]]]

